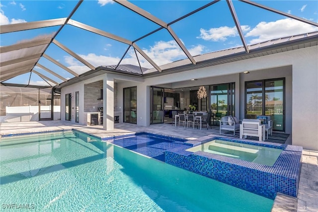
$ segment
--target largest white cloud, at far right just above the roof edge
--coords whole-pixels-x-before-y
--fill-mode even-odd
[[[246,33],[245,37],[256,37],[250,40],[250,44],[255,44],[276,38],[282,38],[291,35],[298,35],[318,30],[318,27],[301,21],[286,18],[277,21],[262,21],[255,28]]]

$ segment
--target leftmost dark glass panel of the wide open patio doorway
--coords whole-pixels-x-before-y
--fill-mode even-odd
[[[151,124],[163,124],[164,88],[151,87]]]

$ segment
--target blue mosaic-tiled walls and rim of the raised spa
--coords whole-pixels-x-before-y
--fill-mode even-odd
[[[201,144],[214,140],[250,144],[257,148],[270,147],[278,149],[281,153],[272,165],[266,165],[242,160],[236,156],[202,151]],[[297,196],[303,150],[301,146],[209,136],[201,138],[200,142],[199,140],[187,142],[192,146],[195,143],[199,144],[197,148],[201,150],[192,152],[189,148],[169,149],[165,151],[165,162],[272,200],[275,199],[277,192]],[[268,157],[271,157],[271,154],[268,154]]]

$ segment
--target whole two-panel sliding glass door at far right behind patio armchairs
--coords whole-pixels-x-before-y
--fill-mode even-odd
[[[285,78],[245,82],[245,118],[270,116],[273,130],[285,132]]]

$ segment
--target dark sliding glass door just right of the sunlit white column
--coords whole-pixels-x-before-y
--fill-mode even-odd
[[[137,86],[124,88],[124,122],[137,124]]]

